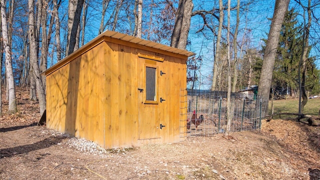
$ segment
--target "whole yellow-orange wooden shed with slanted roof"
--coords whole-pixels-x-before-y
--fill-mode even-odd
[[[104,148],[184,140],[190,55],[105,31],[42,72],[46,126]]]

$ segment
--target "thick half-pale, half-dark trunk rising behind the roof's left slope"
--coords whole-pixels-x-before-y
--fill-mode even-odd
[[[67,33],[67,55],[74,51],[76,35],[80,23],[80,16],[84,0],[69,0],[68,5],[68,33]]]

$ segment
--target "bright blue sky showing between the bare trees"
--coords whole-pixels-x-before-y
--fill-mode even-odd
[[[240,10],[240,25],[239,25],[239,33],[238,33],[238,41],[243,37],[243,33],[246,35],[247,41],[250,41],[248,44],[249,46],[260,48],[263,44],[261,39],[267,38],[266,33],[269,31],[269,25],[270,20],[268,18],[272,17],[273,14],[273,8],[274,8],[274,0],[254,0],[251,2],[249,6],[243,5],[243,3],[252,1],[252,0],[241,0],[241,10]],[[302,2],[305,3],[306,0],[302,0]],[[226,0],[224,0],[226,2]],[[65,1],[64,3],[67,3]],[[95,3],[95,4],[94,4]],[[93,39],[97,33],[100,23],[100,8],[101,5],[98,4],[99,2],[90,2],[89,4],[89,14],[87,17],[87,27],[85,29],[85,43]],[[111,3],[114,3],[114,1],[111,0]],[[147,8],[149,1],[143,0],[143,9]],[[197,9],[212,9],[212,6],[218,7],[217,4],[212,3],[218,3],[217,0],[193,0],[194,3],[194,10]],[[177,5],[177,4],[175,4]],[[236,0],[231,1],[231,6],[236,5]],[[294,6],[296,9],[299,9],[300,7],[295,5],[295,2],[291,0],[290,6]],[[64,8],[66,8],[64,6]],[[63,8],[63,7],[62,7]],[[109,10],[107,10],[107,14],[112,13],[113,6],[110,7]],[[63,11],[63,9],[60,9]],[[161,10],[161,9],[158,9]],[[301,9],[299,9],[301,10]],[[131,9],[132,11],[132,9]],[[317,17],[319,17],[319,11],[315,11],[315,14]],[[142,19],[143,22],[147,21],[148,19],[148,13],[145,12]],[[62,14],[62,13],[61,13]],[[126,15],[125,13],[122,15]],[[61,17],[62,18],[62,17]],[[65,17],[64,17],[65,18]],[[226,11],[225,11],[225,25],[226,25]],[[211,19],[207,19],[208,23],[211,23],[212,25],[217,25],[217,19],[214,17]],[[187,46],[187,50],[195,52],[196,55],[201,55],[203,57],[203,63],[201,66],[201,82],[208,81],[207,84],[202,85],[200,88],[207,89],[209,86],[209,77],[212,74],[212,66],[213,66],[213,46],[215,45],[215,40],[213,39],[214,36],[212,35],[212,32],[208,31],[206,29],[204,33],[195,33],[198,29],[201,28],[203,24],[203,20],[199,15],[195,15],[191,18],[191,26],[189,31],[189,41],[191,42],[190,45]],[[231,32],[234,31],[234,24],[235,24],[235,10],[231,11]],[[116,29],[116,31],[125,33],[123,29],[127,29],[129,27],[128,23],[121,23],[121,26]],[[244,28],[246,28],[246,31],[244,32]],[[248,31],[248,29],[250,29]],[[61,32],[63,33],[63,32]],[[222,36],[225,38],[226,33],[225,31],[222,33]],[[143,37],[142,37],[143,38]],[[224,39],[225,40],[225,39]],[[161,43],[164,43],[166,45],[169,45],[168,40],[161,40]],[[313,54],[317,54],[317,51],[312,51]],[[317,60],[317,67],[320,68],[320,60]]]

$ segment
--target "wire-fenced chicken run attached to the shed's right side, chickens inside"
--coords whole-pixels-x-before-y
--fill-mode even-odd
[[[181,116],[186,119],[184,133],[193,135],[213,135],[222,133],[226,129],[226,91],[181,89],[180,112],[186,112]],[[232,123],[230,131],[259,129],[261,118],[264,116],[265,103],[256,94],[245,94],[243,92],[231,93]],[[186,108],[186,109],[183,109]],[[180,123],[181,124],[181,123]],[[183,123],[182,123],[183,124]],[[185,133],[186,129],[186,133]]]

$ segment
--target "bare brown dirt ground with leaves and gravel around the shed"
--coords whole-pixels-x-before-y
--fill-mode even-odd
[[[102,149],[45,126],[17,90],[19,112],[0,118],[0,179],[320,179],[320,127],[273,119],[260,131],[179,143]]]

